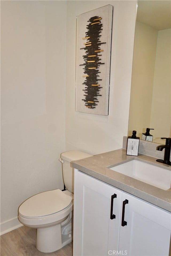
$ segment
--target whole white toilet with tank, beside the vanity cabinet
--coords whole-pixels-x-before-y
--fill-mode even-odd
[[[27,227],[37,229],[36,247],[43,253],[51,253],[72,240],[71,219],[73,210],[72,161],[92,155],[72,150],[61,153],[63,181],[66,190],[50,190],[36,194],[18,208],[18,219]]]

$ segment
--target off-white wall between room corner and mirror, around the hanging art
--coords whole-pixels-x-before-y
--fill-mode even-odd
[[[113,5],[109,115],[75,112],[76,16]],[[127,135],[136,1],[68,1],[66,62],[66,150],[90,154],[122,148]]]

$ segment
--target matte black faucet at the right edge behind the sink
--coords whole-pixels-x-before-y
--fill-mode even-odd
[[[157,159],[157,162],[165,163],[166,165],[171,165],[170,162],[170,150],[171,150],[171,138],[161,138],[166,139],[166,145],[160,145],[156,148],[156,150],[162,151],[165,148],[164,160]]]

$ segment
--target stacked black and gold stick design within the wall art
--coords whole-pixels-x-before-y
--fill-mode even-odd
[[[91,17],[87,25],[88,31],[86,32],[86,36],[83,37],[83,40],[86,40],[87,42],[84,43],[85,48],[81,48],[85,50],[86,55],[83,56],[84,58],[84,64],[80,64],[80,66],[84,66],[84,75],[83,77],[86,77],[86,80],[83,84],[86,85],[85,89],[83,90],[85,92],[84,96],[85,99],[82,99],[85,102],[85,106],[87,108],[95,108],[98,104],[98,97],[102,96],[100,95],[100,83],[99,81],[102,81],[102,79],[99,78],[99,65],[102,65],[104,63],[100,62],[100,56],[102,54],[99,54],[103,52],[103,49],[100,48],[102,43],[99,38],[101,37],[100,33],[101,30],[103,30],[103,25],[101,23],[102,17],[94,16]]]

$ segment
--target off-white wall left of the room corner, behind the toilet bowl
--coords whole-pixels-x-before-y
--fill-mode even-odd
[[[18,206],[63,188],[66,1],[1,1],[1,233]]]

